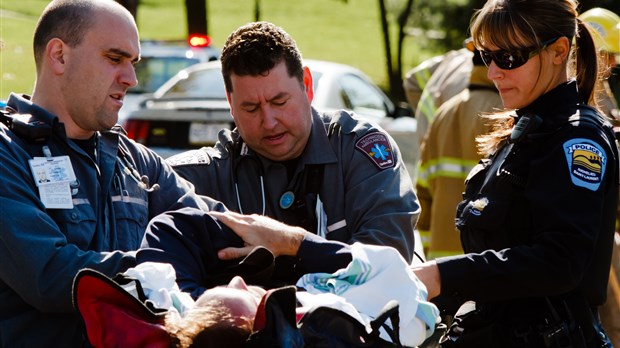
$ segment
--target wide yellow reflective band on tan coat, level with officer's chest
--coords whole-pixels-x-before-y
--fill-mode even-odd
[[[420,166],[417,184],[428,187],[428,182],[439,177],[465,179],[478,161],[456,157],[440,157]]]

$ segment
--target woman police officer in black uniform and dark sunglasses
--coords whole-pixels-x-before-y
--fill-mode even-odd
[[[609,273],[618,151],[610,125],[587,105],[596,50],[576,8],[489,0],[472,20],[489,78],[516,115],[496,115],[480,139],[489,157],[457,208],[466,254],[415,269],[430,297],[475,301],[461,306],[443,347],[609,344],[596,308]]]

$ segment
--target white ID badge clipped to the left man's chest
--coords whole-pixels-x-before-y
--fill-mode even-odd
[[[75,173],[69,156],[35,157],[28,162],[45,207],[72,209],[70,183],[75,181]]]

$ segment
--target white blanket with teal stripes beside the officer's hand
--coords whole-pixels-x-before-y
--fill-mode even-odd
[[[309,294],[335,294],[342,303],[334,304],[333,297],[322,299],[305,296],[297,298],[304,306],[330,306],[350,313],[368,327],[383,307],[396,300],[400,314],[400,341],[408,347],[420,345],[430,337],[439,322],[439,310],[428,302],[426,286],[416,277],[405,259],[391,247],[355,243],[353,261],[333,274],[313,273],[299,279],[297,286]],[[304,303],[305,302],[305,303]],[[385,331],[381,337],[390,340]]]

